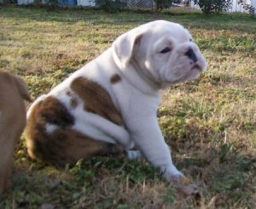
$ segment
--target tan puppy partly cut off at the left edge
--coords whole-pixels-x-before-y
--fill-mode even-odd
[[[9,188],[15,144],[26,124],[23,99],[31,101],[26,83],[0,72],[0,198]]]

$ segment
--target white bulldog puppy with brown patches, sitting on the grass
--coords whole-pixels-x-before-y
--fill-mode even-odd
[[[138,26],[32,104],[28,153],[65,165],[125,150],[160,167],[167,179],[179,179],[156,116],[160,89],[193,80],[205,68],[182,25],[156,20]]]

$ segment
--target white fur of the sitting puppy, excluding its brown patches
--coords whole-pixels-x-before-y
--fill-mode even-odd
[[[48,95],[60,99],[70,110],[75,118],[74,129],[98,140],[122,144],[127,150],[135,146],[139,151],[128,151],[128,156],[141,158],[144,155],[155,167],[160,167],[167,179],[179,178],[183,174],[172,163],[156,112],[161,88],[195,79],[206,68],[205,59],[191,40],[189,31],[175,23],[158,20],[141,25],[118,37],[111,48]],[[161,54],[166,47],[172,51]],[[189,48],[195,52],[196,65],[201,71],[193,69],[195,63],[191,64],[191,59],[184,55]],[[113,84],[109,79],[114,74],[121,80]],[[89,78],[108,91],[125,126],[84,111],[82,100],[75,109],[69,106],[66,92],[71,91],[70,84],[78,76]],[[48,129],[51,131],[52,127]]]

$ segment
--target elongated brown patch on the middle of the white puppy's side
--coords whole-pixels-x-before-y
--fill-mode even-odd
[[[78,77],[71,83],[71,88],[84,100],[84,110],[102,116],[119,126],[123,125],[119,110],[113,104],[108,92],[99,84],[85,77]]]

